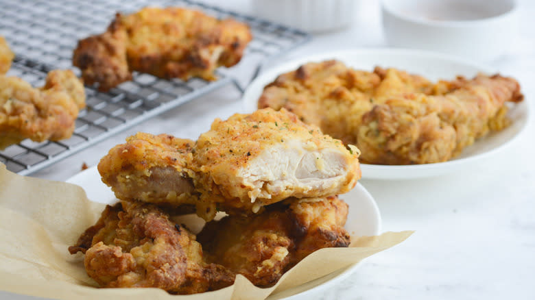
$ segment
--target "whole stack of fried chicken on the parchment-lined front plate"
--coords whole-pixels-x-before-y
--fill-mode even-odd
[[[237,274],[272,286],[313,251],[348,246],[337,195],[360,178],[358,156],[284,109],[216,119],[196,142],[139,133],[99,163],[120,202],[69,251],[102,287],[191,294]],[[207,221],[197,236],[174,221],[191,212]]]

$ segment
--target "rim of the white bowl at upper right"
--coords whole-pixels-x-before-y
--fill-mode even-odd
[[[481,26],[481,25],[488,25],[488,23],[492,23],[492,22],[505,21],[506,18],[509,18],[509,16],[516,14],[516,12],[518,12],[519,10],[518,0],[510,0],[512,2],[512,8],[496,16],[489,16],[486,18],[475,18],[473,20],[443,21],[443,20],[431,20],[427,18],[417,18],[417,17],[411,16],[410,14],[403,14],[399,12],[398,10],[394,9],[392,5],[390,5],[390,1],[392,0],[381,0],[381,8],[383,9],[383,13],[388,12],[388,14],[391,14],[392,16],[395,16],[396,18],[399,18],[403,21],[406,21],[409,23],[416,23],[419,25],[431,26],[431,27],[458,28],[458,27],[475,27],[475,26]]]

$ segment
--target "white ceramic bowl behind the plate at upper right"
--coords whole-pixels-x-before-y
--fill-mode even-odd
[[[489,61],[518,32],[515,0],[382,0],[389,44]]]

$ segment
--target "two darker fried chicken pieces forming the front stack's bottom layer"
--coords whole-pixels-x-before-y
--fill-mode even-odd
[[[267,287],[313,251],[348,247],[347,210],[337,197],[287,199],[254,216],[207,223],[201,246],[168,210],[122,202],[107,205],[69,252],[85,253],[88,275],[106,288],[193,294],[229,286],[238,273]]]

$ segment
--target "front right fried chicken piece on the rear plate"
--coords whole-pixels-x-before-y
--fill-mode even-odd
[[[490,129],[505,126],[504,103],[523,99],[518,82],[500,75],[439,84],[443,95],[401,94],[363,116],[357,145],[365,162],[445,162]]]

